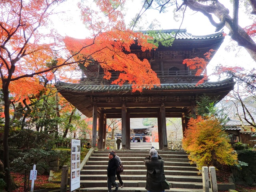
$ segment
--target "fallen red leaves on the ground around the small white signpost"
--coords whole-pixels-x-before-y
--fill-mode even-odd
[[[14,182],[19,186],[19,188],[14,190],[13,192],[24,191],[24,174],[14,173],[14,172],[12,172],[11,174],[12,174]],[[29,175],[28,175],[28,177],[29,177]],[[50,183],[50,182],[48,182],[48,176],[38,175],[34,182],[34,189],[37,189],[37,188],[39,188],[39,186],[42,186],[42,184],[46,184],[46,183]],[[30,180],[30,186],[31,186],[31,180]]]

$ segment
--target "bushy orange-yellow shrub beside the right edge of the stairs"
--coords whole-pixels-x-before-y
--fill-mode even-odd
[[[188,158],[197,164],[198,169],[202,166],[215,166],[218,169],[222,164],[237,163],[237,154],[221,128],[214,116],[190,118],[182,142],[184,150],[189,153]]]

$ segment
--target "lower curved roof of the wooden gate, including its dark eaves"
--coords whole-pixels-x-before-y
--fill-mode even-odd
[[[194,84],[161,84],[151,90],[132,92],[132,85],[86,85],[58,82],[55,86],[72,105],[87,117],[92,116],[93,102],[98,107],[121,108],[125,101],[131,108],[160,107],[162,101],[166,107],[179,108],[191,106],[191,101],[204,94],[221,100],[234,88],[233,79],[219,82]]]

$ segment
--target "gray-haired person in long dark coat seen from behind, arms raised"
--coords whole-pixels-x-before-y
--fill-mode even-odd
[[[162,190],[162,181],[164,176],[164,160],[158,159],[158,152],[155,149],[150,150],[150,159],[145,159],[144,164],[147,169],[146,190],[148,192],[164,192]]]

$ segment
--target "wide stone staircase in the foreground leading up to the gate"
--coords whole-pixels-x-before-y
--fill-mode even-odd
[[[131,143],[132,144],[132,143]],[[132,146],[132,145],[131,145]],[[151,147],[150,147],[151,148]],[[150,150],[149,148],[149,150]],[[124,187],[121,192],[146,192],[146,168],[144,158],[149,150],[116,150],[121,158],[124,172],[121,173]],[[107,164],[110,150],[94,151],[89,161],[80,172],[80,191],[107,192]],[[166,192],[202,192],[202,176],[198,175],[195,164],[188,162],[186,152],[182,150],[158,150],[164,159],[166,180],[172,188]],[[118,180],[116,180],[118,182]],[[119,184],[120,186],[120,184]]]

